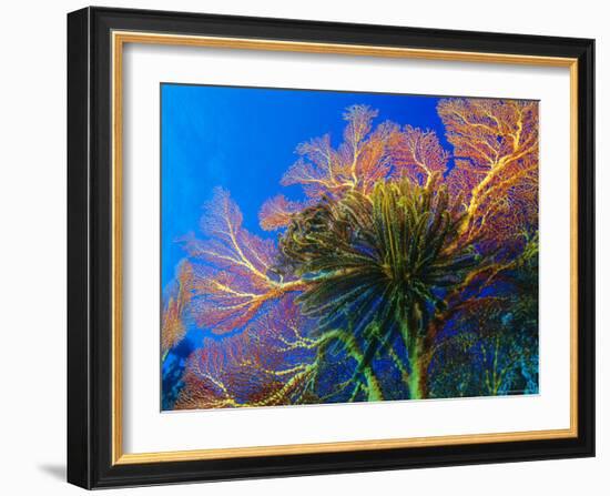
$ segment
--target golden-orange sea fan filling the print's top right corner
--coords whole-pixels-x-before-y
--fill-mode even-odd
[[[466,199],[465,235],[502,243],[538,223],[538,102],[446,99],[438,114],[454,145],[450,191]]]

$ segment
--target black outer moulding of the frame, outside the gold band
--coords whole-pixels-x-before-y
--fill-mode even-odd
[[[111,31],[578,59],[578,437],[112,465]],[[594,40],[110,8],[68,14],[68,482],[84,488],[594,456]]]

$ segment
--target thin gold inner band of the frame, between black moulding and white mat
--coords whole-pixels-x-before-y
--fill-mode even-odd
[[[184,462],[292,454],[339,453],[360,449],[558,439],[578,436],[578,60],[558,57],[424,50],[375,45],[309,43],[150,32],[112,32],[112,464]],[[227,48],[238,50],[289,51],[384,58],[408,58],[460,62],[488,62],[562,67],[570,70],[570,427],[492,434],[468,434],[337,443],[247,446],[240,448],[191,449],[157,453],[123,453],[122,409],[122,82],[125,43]]]

